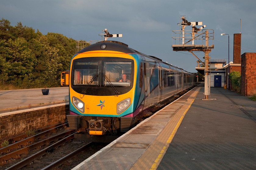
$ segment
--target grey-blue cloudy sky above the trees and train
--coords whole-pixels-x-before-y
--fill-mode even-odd
[[[108,29],[110,34],[123,34],[108,40],[196,73],[196,57],[172,50],[172,44],[179,44],[172,37],[174,30],[180,30],[180,17],[203,22],[202,31],[214,32],[209,56],[228,63],[228,36],[221,33],[229,34],[229,61],[233,61],[233,34],[240,31],[241,54],[256,53],[255,7],[255,0],[0,0],[0,18],[12,26],[21,22],[44,35],[55,32],[84,41],[100,41],[99,34]],[[204,61],[204,52],[194,54]]]

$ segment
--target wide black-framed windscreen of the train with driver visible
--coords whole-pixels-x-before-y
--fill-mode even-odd
[[[87,95],[119,95],[133,85],[134,61],[119,57],[85,57],[72,64],[71,87]]]

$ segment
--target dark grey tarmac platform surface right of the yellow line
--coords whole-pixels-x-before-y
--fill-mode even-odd
[[[216,100],[200,100],[203,90],[157,170],[256,169],[256,102],[222,88],[211,88]]]

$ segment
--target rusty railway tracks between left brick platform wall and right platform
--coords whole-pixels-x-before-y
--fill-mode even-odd
[[[75,161],[66,163],[72,168],[106,145],[75,139],[76,131],[65,129],[66,125],[63,123],[48,127],[29,138],[20,135],[9,139],[13,141],[12,144],[0,148],[0,169],[54,169],[83,154],[81,159],[75,158]],[[52,132],[55,133],[46,138]],[[66,165],[63,169],[67,169]]]

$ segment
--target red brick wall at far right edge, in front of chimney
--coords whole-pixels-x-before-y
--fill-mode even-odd
[[[241,94],[251,96],[256,93],[256,53],[241,56]]]

